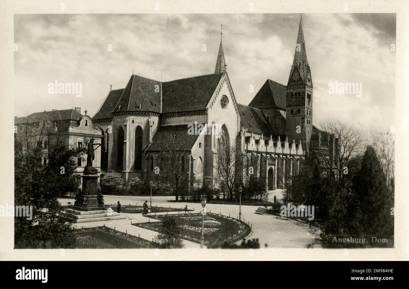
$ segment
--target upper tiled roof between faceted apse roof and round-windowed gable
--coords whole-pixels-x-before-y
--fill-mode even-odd
[[[223,74],[209,74],[162,83],[163,113],[205,109]]]

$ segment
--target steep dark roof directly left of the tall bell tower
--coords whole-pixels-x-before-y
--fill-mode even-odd
[[[267,79],[258,93],[249,103],[249,106],[255,108],[279,107],[285,109],[286,105],[286,86],[278,82]]]

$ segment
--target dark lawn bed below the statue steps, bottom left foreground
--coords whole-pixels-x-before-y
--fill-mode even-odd
[[[102,226],[76,230],[76,249],[155,248],[153,242]]]

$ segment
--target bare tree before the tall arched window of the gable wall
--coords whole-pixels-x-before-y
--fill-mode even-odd
[[[233,198],[234,185],[243,178],[242,172],[245,167],[245,155],[236,147],[228,147],[224,155],[215,154],[213,168],[216,176],[224,181],[229,191],[227,198]]]

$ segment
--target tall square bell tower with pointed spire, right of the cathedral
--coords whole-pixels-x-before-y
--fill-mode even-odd
[[[294,52],[286,92],[285,128],[288,141],[309,150],[312,133],[312,77],[307,60],[303,33],[303,20],[300,19],[297,43]]]

